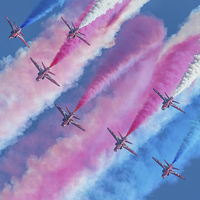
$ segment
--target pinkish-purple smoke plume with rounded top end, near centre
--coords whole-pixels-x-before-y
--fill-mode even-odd
[[[115,48],[109,52],[99,67],[75,111],[127,69],[124,63],[131,60],[132,63],[129,65],[133,65],[149,51],[161,45],[164,35],[165,30],[162,23],[153,17],[139,16],[128,21],[118,34]]]

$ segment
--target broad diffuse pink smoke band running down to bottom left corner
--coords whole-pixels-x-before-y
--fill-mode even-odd
[[[122,96],[126,96],[128,102],[131,96],[133,96],[133,93],[138,94],[139,90],[133,91],[132,86],[135,82],[136,85],[138,82],[144,82],[141,81],[142,77],[148,74],[146,71],[148,71],[158,57],[158,52],[151,53],[145,56],[146,64],[143,60],[141,65],[145,66],[140,68],[139,72],[134,70],[134,68],[128,71],[128,82],[130,84],[127,85],[126,82],[121,80],[119,83],[116,81],[116,84],[118,83],[120,85],[120,89],[116,87],[112,97],[103,96],[103,98],[98,98],[98,103],[96,103],[98,106],[95,106],[90,113],[84,114],[84,117],[80,116],[82,119],[81,125],[87,127],[87,134],[82,134],[78,128],[73,126],[65,127],[65,131],[73,134],[73,137],[59,140],[57,144],[50,147],[39,159],[31,156],[27,162],[28,171],[24,173],[22,178],[14,178],[12,186],[10,184],[5,185],[3,192],[0,194],[0,199],[60,199],[59,194],[63,188],[66,188],[68,194],[70,194],[75,187],[79,186],[79,178],[83,174],[86,174],[88,177],[88,175],[97,171],[99,157],[103,153],[106,152],[106,155],[108,155],[107,159],[110,160],[110,157],[114,155],[113,148],[115,140],[107,131],[106,126],[114,127],[113,131],[120,130],[122,133],[127,130],[127,122],[117,112],[122,113],[124,108],[127,107],[129,112],[125,112],[124,114],[130,115],[130,111],[132,111],[134,106],[132,104],[128,106],[122,104],[121,98]],[[123,88],[126,88],[126,91]],[[117,110],[116,107],[118,108]],[[60,113],[57,112],[57,114],[59,115]],[[44,127],[44,124],[55,122],[55,115],[51,114],[49,116],[52,117],[44,116],[40,120],[40,124],[37,130],[35,130],[35,133],[31,134],[32,137],[29,139],[31,150],[36,145],[39,146],[37,140],[39,141],[41,139],[41,135],[42,140],[44,140],[43,142],[48,143],[48,139],[45,140],[45,137],[52,132],[49,135],[51,138],[51,134],[58,133],[62,129],[60,123],[58,123],[59,126]],[[113,116],[115,117],[113,118]],[[131,123],[131,119],[128,120],[128,123]],[[49,131],[50,129],[51,131]],[[42,132],[45,132],[45,135]],[[19,148],[24,149],[24,153],[27,152],[27,146],[22,144]],[[132,145],[132,148],[135,149],[134,145]],[[35,150],[36,152],[38,151],[36,148]],[[9,163],[8,161],[7,163]],[[19,165],[22,165],[22,163],[19,162],[16,167]],[[109,164],[107,163],[107,165]],[[12,170],[15,169],[13,168]]]

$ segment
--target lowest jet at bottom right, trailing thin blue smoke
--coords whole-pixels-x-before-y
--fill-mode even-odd
[[[156,158],[154,158],[154,157],[152,157],[152,158],[163,168],[163,170],[162,170],[162,172],[163,172],[162,178],[165,178],[166,176],[169,176],[170,174],[173,174],[175,176],[178,176],[179,178],[182,178],[182,179],[186,180],[186,178],[182,177],[180,174],[178,174],[177,172],[172,170],[172,169],[179,170],[179,169],[173,167],[172,163],[168,164],[167,161],[164,159],[164,161],[167,164],[167,166],[166,166],[166,165],[162,164],[160,161],[158,161]]]

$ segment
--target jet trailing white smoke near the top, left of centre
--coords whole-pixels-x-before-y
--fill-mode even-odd
[[[69,31],[69,35],[67,36],[67,39],[71,39],[71,38],[75,38],[76,36],[78,38],[80,38],[83,42],[85,42],[87,45],[90,46],[90,44],[86,41],[86,39],[84,39],[81,35],[85,35],[83,33],[81,33],[79,31],[79,27],[76,28],[74,26],[74,24],[72,23],[72,25],[70,25],[66,20],[63,19],[63,17],[61,17],[61,19],[64,21],[64,23],[68,26],[68,28],[70,29]],[[81,34],[81,35],[80,35]]]

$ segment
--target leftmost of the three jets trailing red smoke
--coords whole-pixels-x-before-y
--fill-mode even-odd
[[[51,82],[53,82],[54,84],[56,84],[57,86],[60,86],[53,78],[51,78],[51,76],[49,76],[49,74],[55,75],[54,73],[50,72],[50,67],[45,67],[44,63],[42,62],[42,65],[44,67],[44,69],[42,69],[42,67],[40,67],[34,60],[33,58],[30,58],[31,61],[33,62],[33,64],[37,67],[37,69],[39,70],[38,73],[38,77],[36,78],[36,81],[40,81],[41,79],[47,78],[48,80],[50,80]]]

